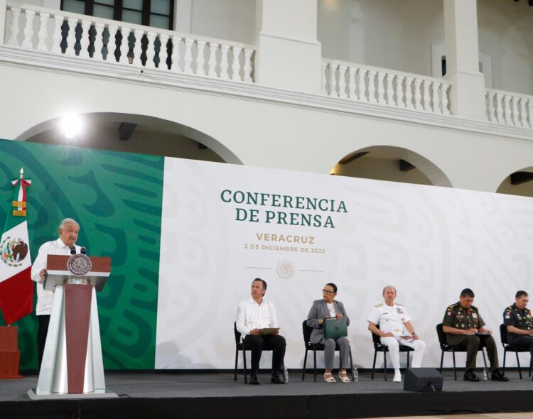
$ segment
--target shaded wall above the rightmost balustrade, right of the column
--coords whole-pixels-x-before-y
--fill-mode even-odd
[[[478,0],[480,51],[492,57],[494,88],[533,94],[533,7]]]

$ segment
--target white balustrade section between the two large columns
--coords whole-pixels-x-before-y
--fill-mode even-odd
[[[450,114],[450,85],[442,79],[337,60],[323,60],[321,73],[322,89],[331,97]]]

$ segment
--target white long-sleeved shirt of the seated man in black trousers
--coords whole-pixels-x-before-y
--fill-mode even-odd
[[[279,327],[274,304],[264,298],[261,305],[252,297],[242,301],[237,308],[237,330],[240,334],[246,336],[250,330],[264,327]]]

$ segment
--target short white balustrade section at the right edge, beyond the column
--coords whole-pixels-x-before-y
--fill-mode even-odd
[[[486,89],[485,102],[489,121],[533,129],[533,96]]]

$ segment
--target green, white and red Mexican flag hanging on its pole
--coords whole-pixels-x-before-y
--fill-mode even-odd
[[[26,188],[31,180],[12,182],[14,199],[7,213],[4,234],[0,239],[0,310],[7,325],[20,320],[33,310],[33,281],[26,221]]]

